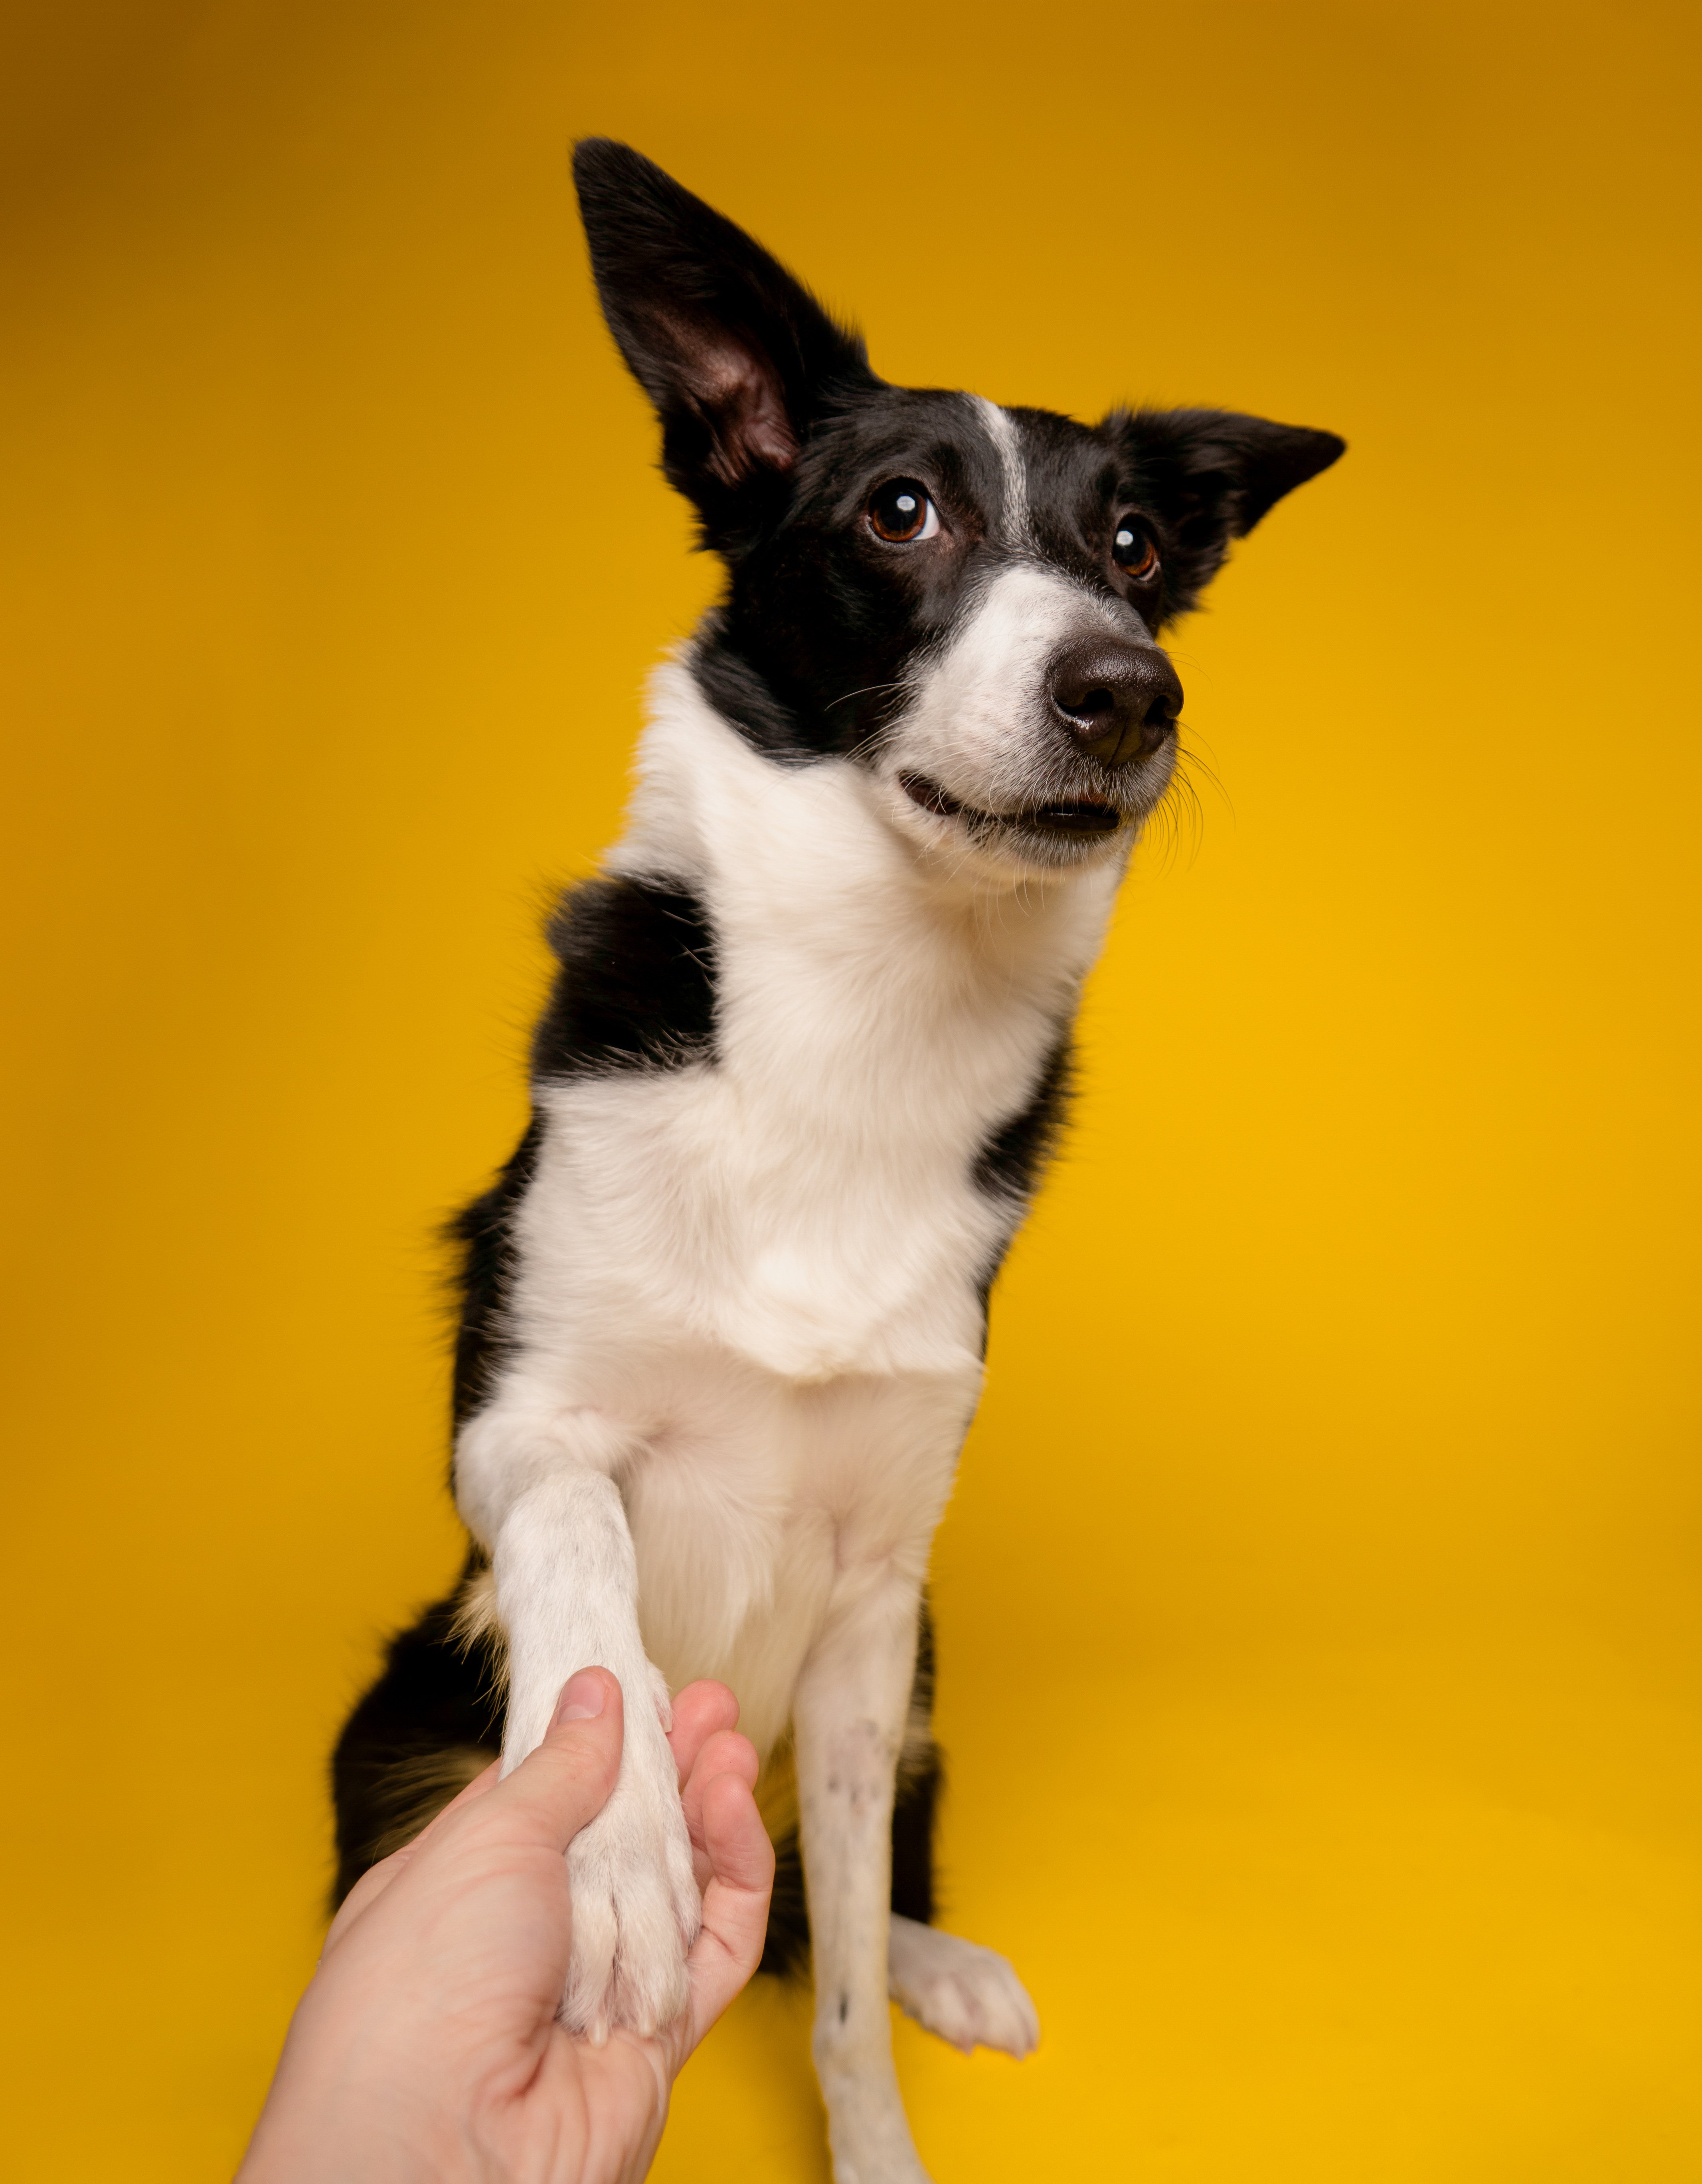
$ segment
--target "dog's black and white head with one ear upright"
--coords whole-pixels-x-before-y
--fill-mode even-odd
[[[728,563],[693,668],[780,762],[852,758],[924,852],[1119,854],[1175,767],[1158,631],[1341,454],[1226,411],[1082,426],[889,387],[743,229],[625,144],[575,153],[610,330]]]

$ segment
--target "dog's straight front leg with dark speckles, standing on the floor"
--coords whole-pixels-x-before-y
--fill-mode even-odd
[[[887,2016],[891,1800],[915,1669],[920,1588],[872,1575],[811,1655],[793,1699],[815,1968],[815,2068],[835,2184],[926,2184]]]

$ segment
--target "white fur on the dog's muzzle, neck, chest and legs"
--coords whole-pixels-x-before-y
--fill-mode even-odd
[[[1099,612],[1007,568],[874,769],[776,764],[684,666],[658,675],[610,869],[706,902],[717,1057],[542,1088],[513,1350],[457,1448],[507,1636],[505,1767],[581,1664],[629,1701],[618,1789],[570,1852],[564,2020],[601,2038],[684,2001],[697,1896],[666,1686],[723,1677],[758,1749],[795,1732],[841,2184],[922,2177],[889,1990],[959,2044],[1038,2038],[1001,1957],[889,1922],[889,1821],[929,1544],[981,1389],[979,1284],[1018,1212],[972,1164],[1040,1083],[1130,847],[1036,871],[898,773],[1016,804],[1044,664]]]

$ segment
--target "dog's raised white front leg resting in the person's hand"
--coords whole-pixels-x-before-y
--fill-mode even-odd
[[[575,1669],[612,1669],[625,1699],[614,1795],[568,1845],[572,1957],[562,2022],[603,2042],[651,2033],[686,2005],[701,1904],[669,1693],[638,1634],[638,1568],[614,1470],[627,1441],[594,1411],[494,1406],[457,1448],[457,1500],[492,1551],[507,1638],[503,1771],[542,1741]]]

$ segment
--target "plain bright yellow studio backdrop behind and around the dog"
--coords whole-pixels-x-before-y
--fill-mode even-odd
[[[937,1551],[942,2184],[1680,2184],[1698,1900],[1695,15],[153,0],[0,28],[7,2167],[214,2180],[450,1575],[430,1230],[708,596],[638,142],[876,365],[1352,443],[1178,640]],[[749,1994],[660,2175],[819,2180]]]

